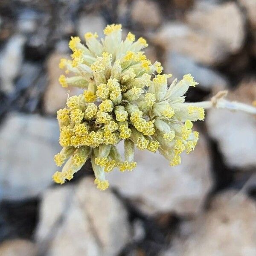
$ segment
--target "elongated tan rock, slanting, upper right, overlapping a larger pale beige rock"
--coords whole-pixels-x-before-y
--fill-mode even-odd
[[[214,65],[227,57],[227,52],[216,38],[193,30],[185,23],[168,22],[153,35],[152,41],[166,49],[192,58],[192,60]]]

